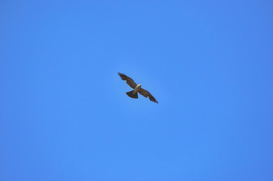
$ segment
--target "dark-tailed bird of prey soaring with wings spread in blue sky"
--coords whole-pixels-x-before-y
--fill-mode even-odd
[[[158,104],[158,101],[152,96],[152,94],[150,92],[148,92],[147,90],[141,88],[141,84],[136,84],[133,79],[131,79],[130,77],[128,77],[127,75],[125,74],[122,74],[122,73],[118,73],[118,75],[120,76],[120,78],[123,80],[123,81],[126,81],[126,83],[132,88],[134,89],[133,91],[130,91],[130,92],[126,92],[127,96],[131,97],[131,98],[134,98],[134,99],[138,99],[138,95],[137,93],[143,95],[144,97],[149,97],[150,101],[153,101],[155,103]]]

